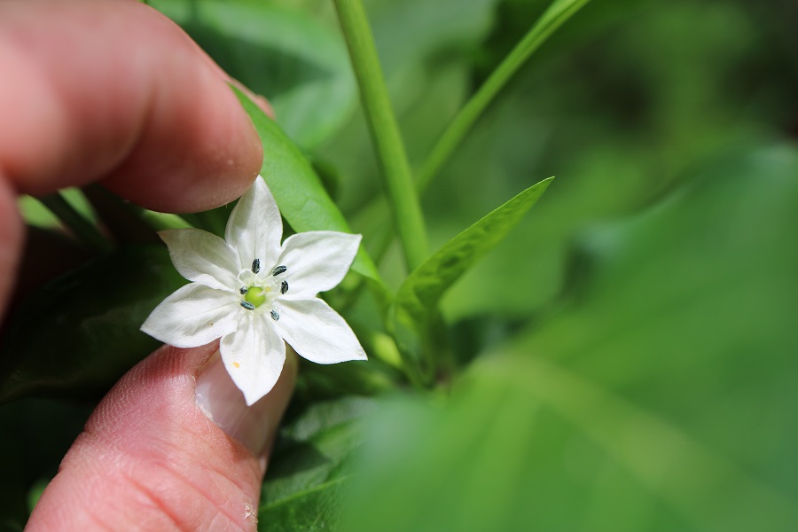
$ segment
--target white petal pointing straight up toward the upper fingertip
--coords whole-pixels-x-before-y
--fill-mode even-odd
[[[239,253],[239,270],[260,259],[263,268],[279,254],[283,220],[274,196],[261,176],[233,208],[224,239]]]

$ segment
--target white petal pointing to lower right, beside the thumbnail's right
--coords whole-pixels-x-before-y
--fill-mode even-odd
[[[280,336],[302,357],[317,364],[365,360],[355,333],[325,301],[280,301]]]

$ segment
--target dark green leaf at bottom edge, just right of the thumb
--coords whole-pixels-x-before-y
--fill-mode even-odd
[[[285,426],[270,458],[258,520],[286,532],[336,528],[348,462],[359,447],[356,420],[372,400],[315,403]]]

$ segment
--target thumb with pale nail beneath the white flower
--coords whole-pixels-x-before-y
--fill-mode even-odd
[[[255,530],[295,375],[289,356],[272,391],[246,407],[218,342],[160,348],[98,405],[27,530]]]

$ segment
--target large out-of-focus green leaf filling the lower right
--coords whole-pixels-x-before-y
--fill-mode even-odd
[[[740,153],[584,234],[571,301],[364,424],[345,529],[794,530],[796,176]]]

